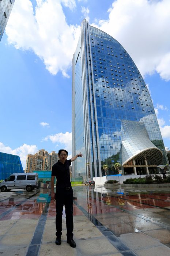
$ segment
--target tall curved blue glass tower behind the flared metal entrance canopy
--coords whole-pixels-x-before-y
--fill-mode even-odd
[[[107,174],[114,174],[116,162],[124,164],[125,174],[156,173],[158,161],[150,158],[154,154],[151,148],[147,151],[148,144],[155,145],[159,164],[168,163],[151,97],[135,63],[119,42],[86,20],[73,55],[72,76],[72,154],[81,151],[84,156],[73,162],[74,176],[103,176],[104,164],[109,166]],[[127,152],[122,150],[123,120],[133,121],[133,128],[140,122],[146,135],[145,154],[135,147],[135,158],[132,154],[128,162],[122,162]]]

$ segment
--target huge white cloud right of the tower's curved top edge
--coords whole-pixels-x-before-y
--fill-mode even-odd
[[[109,9],[109,19],[92,26],[120,42],[142,75],[157,71],[170,80],[169,20],[169,0],[117,0]]]

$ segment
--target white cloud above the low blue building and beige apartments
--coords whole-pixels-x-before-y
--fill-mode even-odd
[[[23,144],[22,146],[12,150],[12,148],[5,146],[2,142],[0,142],[0,152],[12,155],[19,155],[23,169],[25,169],[26,166],[27,154],[35,154],[37,151],[38,148],[36,145]]]

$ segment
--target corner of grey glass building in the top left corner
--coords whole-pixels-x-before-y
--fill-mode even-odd
[[[15,0],[0,0],[0,41]]]

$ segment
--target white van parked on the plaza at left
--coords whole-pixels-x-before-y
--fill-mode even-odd
[[[0,183],[1,192],[16,188],[26,188],[27,191],[38,188],[38,173],[12,173]]]

